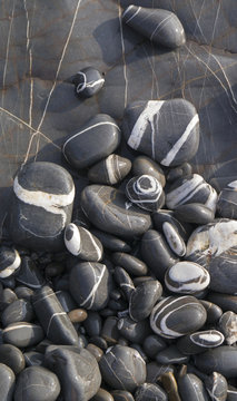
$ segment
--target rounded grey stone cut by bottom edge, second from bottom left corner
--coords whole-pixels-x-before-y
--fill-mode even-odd
[[[42,366],[29,366],[18,376],[14,401],[56,401],[60,393],[57,375]]]

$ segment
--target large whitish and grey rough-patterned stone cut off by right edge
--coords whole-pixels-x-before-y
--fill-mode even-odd
[[[210,275],[210,290],[237,293],[237,222],[220,219],[194,231],[187,243],[186,258],[198,261]]]

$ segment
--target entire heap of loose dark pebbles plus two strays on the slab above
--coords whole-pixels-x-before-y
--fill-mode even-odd
[[[185,43],[169,11],[122,19]],[[73,78],[83,98],[103,82]],[[188,100],[136,101],[121,126],[97,114],[65,139],[81,193],[67,168],[20,168],[0,244],[2,401],[237,400],[237,180],[217,193],[192,172],[198,145]]]

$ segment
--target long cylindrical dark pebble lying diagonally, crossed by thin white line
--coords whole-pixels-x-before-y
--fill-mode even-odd
[[[55,292],[46,285],[34,292],[32,305],[46,336],[55,344],[73,345],[78,334]]]

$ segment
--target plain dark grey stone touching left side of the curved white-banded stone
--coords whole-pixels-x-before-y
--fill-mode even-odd
[[[138,285],[129,300],[129,315],[135,321],[148,317],[162,294],[158,280],[147,281]]]

